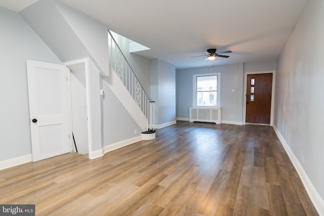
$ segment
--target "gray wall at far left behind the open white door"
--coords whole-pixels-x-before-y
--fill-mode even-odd
[[[61,61],[19,14],[0,7],[0,161],[31,154],[26,59]]]

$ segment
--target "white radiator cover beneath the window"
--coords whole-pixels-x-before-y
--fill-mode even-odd
[[[222,123],[221,107],[189,107],[189,121]]]

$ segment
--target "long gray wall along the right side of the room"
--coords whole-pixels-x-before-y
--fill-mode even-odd
[[[278,59],[274,124],[324,199],[324,1],[310,0]]]

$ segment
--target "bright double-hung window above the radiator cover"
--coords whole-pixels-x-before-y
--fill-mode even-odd
[[[193,75],[193,106],[219,106],[220,73]]]

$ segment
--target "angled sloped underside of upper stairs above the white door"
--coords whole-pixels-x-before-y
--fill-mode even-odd
[[[62,62],[90,57],[102,75],[109,74],[107,25],[54,0],[19,14]]]

